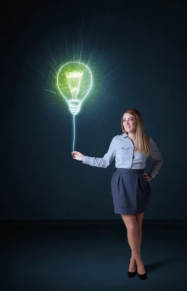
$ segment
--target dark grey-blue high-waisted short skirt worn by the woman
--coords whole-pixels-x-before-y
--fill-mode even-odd
[[[114,212],[139,214],[146,210],[151,196],[151,187],[139,169],[117,168],[111,178]]]

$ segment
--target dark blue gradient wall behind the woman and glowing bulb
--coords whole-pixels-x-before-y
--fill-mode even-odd
[[[104,169],[71,156],[73,115],[56,76],[76,60],[89,62],[94,85],[76,116],[75,150],[103,157],[123,133],[122,114],[138,109],[164,159],[144,219],[187,219],[185,4],[7,3],[2,15],[0,219],[121,220],[115,162]]]

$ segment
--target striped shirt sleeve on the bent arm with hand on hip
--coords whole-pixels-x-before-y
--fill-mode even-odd
[[[150,155],[154,162],[148,175],[151,176],[152,178],[155,178],[164,160],[152,137],[150,137]]]

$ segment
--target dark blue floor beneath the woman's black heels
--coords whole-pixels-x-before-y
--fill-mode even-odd
[[[185,291],[187,226],[142,226],[147,280],[121,226],[0,226],[0,291]]]

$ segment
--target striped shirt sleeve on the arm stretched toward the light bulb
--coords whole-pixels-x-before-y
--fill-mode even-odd
[[[88,156],[84,156],[84,161],[82,163],[88,164],[90,166],[99,167],[99,168],[107,168],[109,164],[113,161],[116,154],[116,140],[112,139],[108,152],[104,155],[103,158],[92,158]]]

